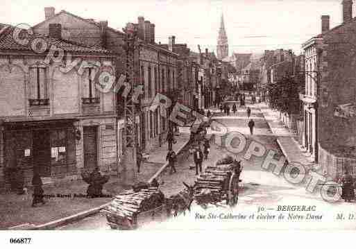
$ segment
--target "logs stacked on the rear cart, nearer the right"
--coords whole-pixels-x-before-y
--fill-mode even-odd
[[[226,186],[231,170],[230,164],[207,166],[194,184],[194,196],[198,204],[219,203],[226,197]]]

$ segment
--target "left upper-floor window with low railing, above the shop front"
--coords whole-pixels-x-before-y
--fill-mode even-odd
[[[31,98],[30,105],[49,105],[46,83],[46,68],[30,68]]]

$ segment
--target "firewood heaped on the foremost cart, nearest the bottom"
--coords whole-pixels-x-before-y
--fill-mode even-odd
[[[164,194],[156,187],[149,187],[139,191],[124,191],[124,193],[115,196],[112,203],[103,211],[133,221],[140,212],[160,207],[163,203]]]

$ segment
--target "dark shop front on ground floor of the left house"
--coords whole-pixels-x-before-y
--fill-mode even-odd
[[[75,119],[3,123],[4,182],[11,189],[42,178],[76,175]]]

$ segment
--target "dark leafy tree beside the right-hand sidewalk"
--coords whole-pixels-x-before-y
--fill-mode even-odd
[[[298,113],[299,110],[299,77],[286,74],[276,83],[270,83],[269,101],[271,108],[287,114]]]

